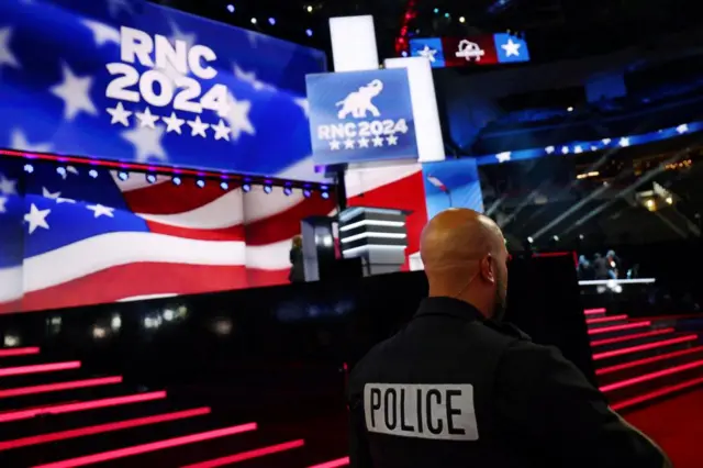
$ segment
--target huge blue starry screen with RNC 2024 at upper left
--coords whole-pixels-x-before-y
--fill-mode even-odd
[[[142,0],[2,0],[0,148],[277,176],[311,155],[304,77],[325,67]]]

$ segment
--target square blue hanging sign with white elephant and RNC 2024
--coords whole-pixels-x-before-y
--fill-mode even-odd
[[[310,75],[306,81],[316,164],[417,158],[405,69]]]

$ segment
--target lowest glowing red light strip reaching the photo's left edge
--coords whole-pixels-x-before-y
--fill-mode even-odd
[[[175,413],[156,414],[154,416],[136,417],[133,420],[118,421],[114,423],[99,424],[94,426],[78,427],[75,430],[54,432],[49,434],[33,435],[15,438],[14,441],[0,442],[0,452],[12,448],[29,447],[49,442],[66,441],[69,438],[85,437],[88,435],[103,434],[107,432],[122,431],[125,428],[141,427],[168,421],[185,420],[186,417],[210,414],[210,408],[196,408],[193,410],[177,411]]]

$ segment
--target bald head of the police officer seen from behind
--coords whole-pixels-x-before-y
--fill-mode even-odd
[[[423,230],[420,255],[431,296],[466,300],[489,316],[496,294],[504,300],[507,252],[490,218],[468,209],[443,211]]]

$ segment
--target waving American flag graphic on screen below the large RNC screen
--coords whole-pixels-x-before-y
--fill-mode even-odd
[[[0,161],[0,311],[31,311],[288,282],[300,221],[320,193]]]

